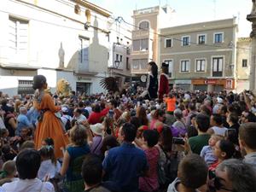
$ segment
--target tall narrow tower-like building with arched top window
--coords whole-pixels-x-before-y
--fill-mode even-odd
[[[169,6],[155,6],[133,11],[131,73],[133,76],[148,73],[148,61],[159,61],[160,28],[170,24],[174,10]]]

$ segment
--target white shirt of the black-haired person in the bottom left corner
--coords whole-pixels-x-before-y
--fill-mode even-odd
[[[55,188],[52,183],[42,182],[38,178],[18,179],[3,184],[0,187],[0,192],[55,192]]]

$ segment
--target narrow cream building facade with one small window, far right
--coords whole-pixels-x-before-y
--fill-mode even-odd
[[[251,44],[252,38],[238,38],[236,47],[236,91],[249,90],[249,77],[251,68]]]

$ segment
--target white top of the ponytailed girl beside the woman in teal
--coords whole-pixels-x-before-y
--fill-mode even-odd
[[[61,164],[57,161],[56,166],[51,162],[51,160],[42,161],[39,171],[38,178],[44,180],[46,177],[53,178],[55,173],[61,171]]]

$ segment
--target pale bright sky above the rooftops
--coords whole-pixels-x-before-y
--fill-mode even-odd
[[[174,26],[197,23],[208,20],[219,20],[237,17],[239,24],[238,37],[248,37],[251,23],[246,17],[251,12],[251,0],[89,0],[108,9],[113,16],[122,16],[132,23],[132,11],[168,3],[176,11]],[[172,26],[173,26],[172,25]],[[129,26],[127,26],[129,27]]]

